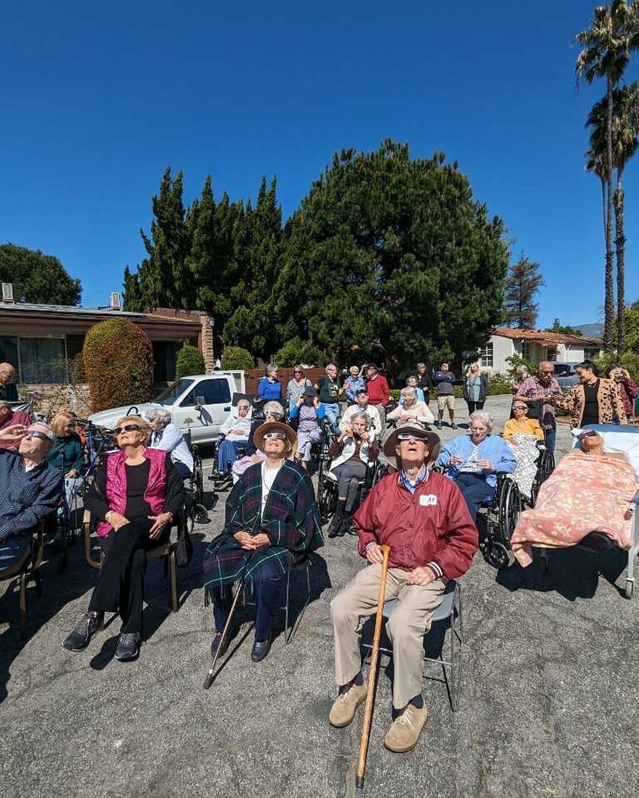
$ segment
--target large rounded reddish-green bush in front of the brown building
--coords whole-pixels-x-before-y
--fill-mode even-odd
[[[153,349],[144,330],[126,318],[109,318],[89,329],[82,350],[93,413],[149,401]]]

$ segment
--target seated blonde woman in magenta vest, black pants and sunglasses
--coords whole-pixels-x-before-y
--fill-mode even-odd
[[[167,452],[149,448],[149,425],[125,416],[113,429],[119,452],[109,454],[85,493],[85,508],[99,519],[105,559],[89,611],[62,642],[70,651],[89,645],[105,612],[122,619],[115,656],[137,657],[142,633],[146,552],[169,538],[185,500],[184,487]]]

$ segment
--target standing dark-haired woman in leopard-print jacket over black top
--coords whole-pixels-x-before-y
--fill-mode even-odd
[[[612,424],[615,417],[620,424],[627,424],[617,383],[599,377],[597,366],[591,360],[581,361],[575,371],[580,384],[571,388],[565,397],[554,398],[558,407],[570,412],[570,426],[575,429],[588,424]]]

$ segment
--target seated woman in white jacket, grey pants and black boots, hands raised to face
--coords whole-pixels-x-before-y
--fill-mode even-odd
[[[337,508],[328,527],[329,538],[346,533],[351,516],[357,509],[355,500],[359,481],[366,476],[368,460],[375,460],[378,453],[371,419],[366,413],[355,413],[351,417],[351,426],[331,444],[332,461],[328,472],[337,478]]]

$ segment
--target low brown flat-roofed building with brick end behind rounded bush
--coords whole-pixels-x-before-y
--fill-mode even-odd
[[[105,307],[33,305],[3,300],[0,362],[16,366],[18,384],[58,384],[65,379],[65,361],[72,360],[82,350],[89,327],[108,318],[128,318],[149,336],[155,361],[153,377],[157,383],[175,379],[176,353],[184,343],[199,346],[207,370],[213,369],[212,319],[207,314],[167,308],[129,313],[121,310],[119,294],[111,294],[111,302]]]

